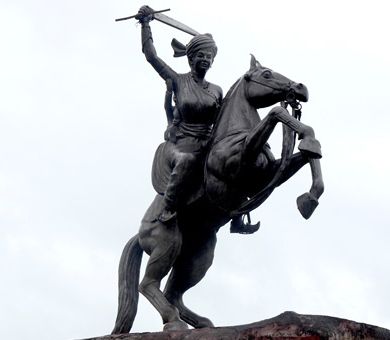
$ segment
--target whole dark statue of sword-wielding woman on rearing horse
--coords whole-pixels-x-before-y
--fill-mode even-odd
[[[146,60],[166,82],[169,125],[152,167],[157,194],[120,259],[113,334],[131,330],[139,293],[160,313],[164,330],[212,327],[208,318],[184,304],[183,294],[210,268],[219,228],[231,221],[231,232],[257,231],[259,224],[251,224],[249,213],[306,164],[312,186],[297,199],[304,218],[311,216],[324,191],[320,143],[314,130],[300,121],[300,102],[308,100],[306,86],[251,56],[249,70],[223,97],[221,88],[205,79],[217,54],[212,35],[199,34],[161,12],[143,6],[132,16],[141,24]],[[157,55],[153,19],[193,35],[187,45],[172,40],[174,56],[187,56],[190,72],[176,73]],[[259,117],[257,109],[278,103]],[[281,158],[275,159],[267,141],[278,123],[283,124],[283,146]],[[140,281],[144,252],[149,260]],[[162,290],[161,280],[168,274]]]

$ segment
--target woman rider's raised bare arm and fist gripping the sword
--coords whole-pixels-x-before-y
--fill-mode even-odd
[[[149,22],[153,20],[153,9],[148,6],[142,6],[136,18],[141,23],[142,52],[145,54],[146,60],[164,80],[172,79],[175,82],[177,73],[157,56],[153,44],[152,30],[149,25]]]

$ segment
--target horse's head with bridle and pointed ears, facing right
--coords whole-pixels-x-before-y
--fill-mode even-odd
[[[285,100],[307,102],[309,92],[303,84],[274,72],[261,64],[252,55],[249,71],[244,75],[247,100],[258,108],[268,107]]]

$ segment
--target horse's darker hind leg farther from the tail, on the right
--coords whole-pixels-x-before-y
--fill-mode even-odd
[[[164,290],[167,299],[179,309],[180,317],[194,328],[213,327],[213,323],[188,309],[184,305],[183,294],[195,286],[210,268],[216,241],[216,234],[210,233],[202,240],[198,239],[194,242],[191,239],[191,242],[183,242],[183,251],[173,267]]]

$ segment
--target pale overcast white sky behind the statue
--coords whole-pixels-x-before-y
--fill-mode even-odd
[[[140,1],[0,3],[0,334],[80,339],[110,333],[117,267],[154,197],[165,85],[145,61],[140,27],[114,19]],[[326,192],[296,209],[303,169],[253,213],[254,235],[222,228],[213,267],[185,297],[216,326],[286,310],[390,328],[389,5],[383,1],[150,1],[213,34],[208,80],[226,93],[249,54],[297,82],[302,120],[323,147]],[[178,72],[152,22],[159,55]],[[267,110],[261,110],[261,116]],[[280,129],[272,139],[280,150]],[[146,256],[144,260],[146,260]],[[159,331],[142,297],[133,331]]]

